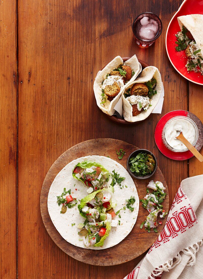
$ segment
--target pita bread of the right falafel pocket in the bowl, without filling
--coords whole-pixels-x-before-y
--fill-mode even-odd
[[[135,83],[145,83],[145,82],[151,80],[153,77],[157,81],[156,87],[154,88],[154,90],[157,91],[157,94],[155,94],[151,98],[151,107],[149,107],[147,109],[147,111],[143,110],[137,116],[132,116],[132,105],[130,105],[128,100],[124,97],[125,89],[131,88]],[[141,121],[141,120],[146,119],[149,116],[149,114],[151,114],[153,109],[156,107],[156,105],[159,101],[159,98],[161,97],[161,91],[162,91],[162,81],[161,81],[161,74],[159,73],[159,70],[154,66],[149,66],[149,67],[144,68],[144,70],[141,73],[141,76],[139,78],[137,78],[135,81],[133,81],[132,83],[130,83],[128,86],[126,86],[124,88],[124,90],[122,91],[121,95],[122,95],[122,101],[123,101],[124,119],[128,122],[136,122],[136,121]]]

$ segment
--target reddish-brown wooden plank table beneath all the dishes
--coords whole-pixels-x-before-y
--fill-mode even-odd
[[[39,206],[42,182],[71,146],[103,137],[153,151],[170,204],[182,179],[202,174],[203,165],[195,158],[172,161],[154,142],[156,123],[171,110],[189,110],[203,121],[202,86],[180,76],[166,55],[166,28],[181,3],[1,1],[0,278],[123,278],[141,259],[91,266],[67,256],[47,234]],[[144,11],[163,21],[162,35],[148,49],[139,48],[132,37],[132,21]],[[164,106],[161,115],[137,126],[118,126],[98,109],[93,82],[113,57],[135,53],[160,69]]]

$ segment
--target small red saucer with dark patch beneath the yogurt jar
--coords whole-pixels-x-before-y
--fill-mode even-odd
[[[173,152],[164,145],[163,140],[162,140],[162,131],[163,131],[163,128],[164,128],[166,122],[168,122],[168,120],[170,120],[171,118],[173,118],[175,116],[186,116],[195,122],[195,124],[197,125],[197,128],[199,130],[199,138],[197,140],[197,143],[195,144],[195,148],[198,151],[202,148],[203,124],[196,115],[194,115],[193,113],[191,113],[187,110],[173,110],[173,111],[165,114],[163,117],[161,117],[161,119],[159,120],[159,122],[157,123],[156,128],[155,128],[154,139],[155,139],[157,147],[159,148],[161,153],[163,155],[165,155],[166,157],[173,159],[173,160],[179,160],[179,161],[188,160],[194,156],[189,150],[185,151],[185,152]]]

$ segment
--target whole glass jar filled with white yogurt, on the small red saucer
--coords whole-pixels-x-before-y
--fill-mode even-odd
[[[187,147],[178,140],[176,137],[179,136],[180,132],[183,136],[193,145],[195,140],[198,138],[198,129],[196,124],[188,117],[180,116],[174,117],[166,123],[164,129],[164,137],[166,143],[175,150],[187,150]]]

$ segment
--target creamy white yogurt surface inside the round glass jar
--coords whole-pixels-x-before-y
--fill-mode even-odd
[[[165,130],[165,139],[167,143],[174,149],[181,150],[187,148],[182,141],[176,137],[179,136],[180,132],[190,142],[193,143],[195,138],[195,129],[192,124],[185,119],[174,119],[172,120]]]

